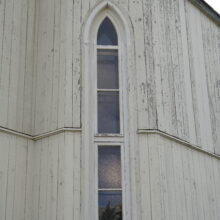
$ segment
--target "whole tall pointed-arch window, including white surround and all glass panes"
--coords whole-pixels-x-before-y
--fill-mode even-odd
[[[84,27],[83,219],[131,220],[128,20],[112,2],[101,1]]]

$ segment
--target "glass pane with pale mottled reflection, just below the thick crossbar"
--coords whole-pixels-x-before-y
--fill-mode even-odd
[[[99,188],[120,188],[120,146],[99,146],[98,151]]]

